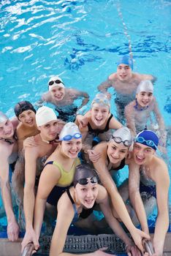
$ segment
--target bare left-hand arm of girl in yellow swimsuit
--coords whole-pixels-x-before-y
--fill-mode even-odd
[[[39,178],[39,187],[37,190],[37,198],[35,203],[34,212],[34,230],[39,238],[40,230],[42,227],[43,215],[45,212],[45,203],[48,195],[50,195],[53,187],[58,184],[58,179],[61,174],[57,167],[53,165],[47,165]]]

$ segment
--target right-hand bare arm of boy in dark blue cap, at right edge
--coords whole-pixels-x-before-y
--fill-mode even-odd
[[[162,172],[161,172],[162,169]],[[170,177],[167,166],[163,162],[163,166],[159,167],[156,172],[156,198],[158,216],[156,219],[156,227],[153,237],[153,246],[157,255],[163,255],[164,239],[169,227],[168,213],[168,193],[170,187]]]

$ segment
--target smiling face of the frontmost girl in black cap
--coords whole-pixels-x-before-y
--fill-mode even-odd
[[[92,208],[98,195],[98,184],[92,184],[90,178],[88,178],[88,184],[80,185],[77,183],[75,187],[75,193],[77,201],[85,208]]]

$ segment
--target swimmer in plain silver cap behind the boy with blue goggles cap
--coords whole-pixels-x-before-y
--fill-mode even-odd
[[[160,145],[166,146],[166,130],[164,120],[159,112],[155,97],[153,97],[153,84],[150,80],[142,80],[137,86],[136,98],[125,107],[126,126],[131,129],[134,136],[147,127],[154,129],[158,126]],[[156,122],[153,121],[153,116]]]

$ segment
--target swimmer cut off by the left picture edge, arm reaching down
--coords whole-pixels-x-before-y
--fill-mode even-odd
[[[9,184],[9,164],[15,163],[18,157],[18,143],[15,129],[18,125],[16,119],[9,118],[0,111],[0,187],[4,209],[7,214],[7,236],[9,241],[17,241],[19,226],[12,208],[12,195]]]

